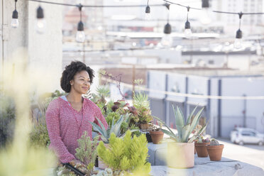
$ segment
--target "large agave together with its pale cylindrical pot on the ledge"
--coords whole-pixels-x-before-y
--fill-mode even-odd
[[[166,126],[167,130],[162,129],[165,134],[170,136],[172,142],[167,143],[167,165],[168,167],[177,167],[177,168],[189,168],[194,167],[194,140],[204,131],[207,125],[203,126],[197,133],[197,135],[189,138],[190,134],[194,130],[194,128],[199,123],[199,119],[201,118],[202,110],[201,109],[192,119],[194,111],[197,109],[197,106],[189,115],[186,123],[182,111],[177,106],[175,109],[174,106],[173,111],[175,114],[175,124],[177,127],[177,134],[173,133],[172,129],[168,127],[165,122],[158,119],[158,117],[154,117],[163,125]]]

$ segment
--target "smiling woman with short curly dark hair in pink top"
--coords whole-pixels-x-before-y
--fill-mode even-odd
[[[75,61],[65,67],[60,79],[60,87],[67,92],[66,96],[50,102],[46,111],[50,148],[55,150],[60,162],[79,163],[75,159],[75,149],[84,131],[92,138],[92,125],[89,121],[98,123],[99,118],[107,128],[106,120],[99,107],[89,99],[82,97],[92,84],[94,70],[84,63]]]

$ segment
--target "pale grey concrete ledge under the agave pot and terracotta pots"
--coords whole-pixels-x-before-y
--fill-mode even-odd
[[[175,169],[166,166],[167,144],[148,143],[148,161],[151,163],[150,175],[177,175],[177,176],[264,176],[264,170],[254,165],[242,163],[238,160],[222,158],[221,161],[210,161],[207,158],[198,158],[194,155],[194,167],[189,169]]]

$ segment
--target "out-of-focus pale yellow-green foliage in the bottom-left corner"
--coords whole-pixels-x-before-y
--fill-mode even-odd
[[[48,148],[13,145],[0,151],[0,175],[3,176],[47,176],[50,173],[48,168],[55,167],[55,164],[55,155]]]

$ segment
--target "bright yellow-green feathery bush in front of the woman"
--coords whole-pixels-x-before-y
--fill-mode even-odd
[[[123,138],[111,133],[109,148],[103,142],[99,143],[97,153],[99,158],[112,170],[125,170],[133,175],[148,175],[148,143],[144,135],[131,138],[131,131],[126,131]]]

